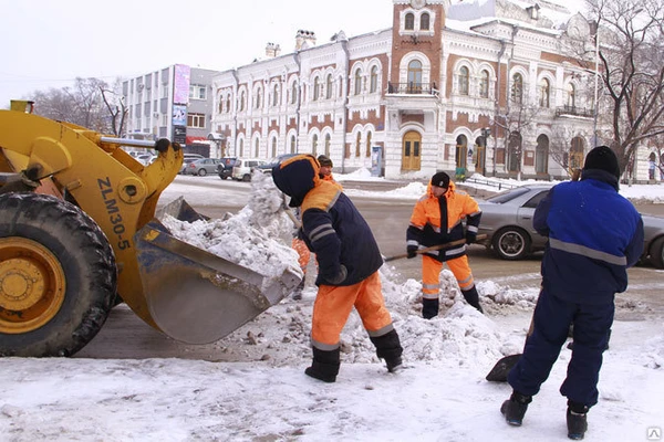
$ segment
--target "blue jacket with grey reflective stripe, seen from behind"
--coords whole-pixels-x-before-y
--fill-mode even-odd
[[[583,169],[580,181],[554,186],[538,204],[532,224],[549,236],[544,290],[581,304],[610,303],[626,290],[626,270],[643,253],[643,221],[618,193],[614,175]]]

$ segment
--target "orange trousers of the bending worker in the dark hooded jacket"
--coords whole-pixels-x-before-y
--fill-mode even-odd
[[[375,272],[354,285],[319,287],[311,319],[312,346],[324,351],[339,348],[341,330],[349,320],[353,306],[357,309],[369,336],[383,336],[394,328],[390,312],[385,307],[381,278],[378,272]]]

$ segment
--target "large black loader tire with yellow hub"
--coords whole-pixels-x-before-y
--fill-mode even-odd
[[[0,196],[0,356],[72,356],[115,301],[113,249],[76,206],[37,193]]]

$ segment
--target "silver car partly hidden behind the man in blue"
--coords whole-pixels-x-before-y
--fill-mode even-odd
[[[483,211],[479,232],[486,233],[481,241],[502,260],[522,260],[544,249],[547,238],[532,227],[535,209],[553,185],[527,185],[498,193],[486,201],[478,201]],[[664,269],[664,218],[642,215],[645,244],[642,261]]]

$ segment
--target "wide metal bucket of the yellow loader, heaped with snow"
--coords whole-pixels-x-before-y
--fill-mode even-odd
[[[184,200],[165,208],[191,220]],[[198,217],[201,217],[198,214]],[[135,236],[138,266],[149,313],[162,332],[187,344],[214,343],[272,305],[300,283],[286,271],[268,277],[174,238],[157,219]]]

